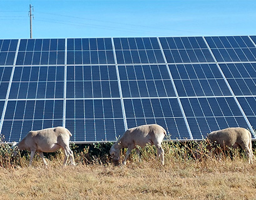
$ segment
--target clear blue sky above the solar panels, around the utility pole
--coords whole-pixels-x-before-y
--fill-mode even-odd
[[[255,0],[0,0],[0,39],[256,35]]]

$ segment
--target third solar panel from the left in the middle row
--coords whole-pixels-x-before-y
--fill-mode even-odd
[[[115,66],[68,66],[67,98],[119,98]]]

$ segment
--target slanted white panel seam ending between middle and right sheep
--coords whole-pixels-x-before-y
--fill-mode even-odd
[[[185,115],[185,111],[183,110],[183,107],[182,107],[182,102],[180,101],[180,97],[178,96],[178,91],[177,91],[177,89],[176,89],[176,87],[175,87],[175,83],[174,83],[174,81],[173,81],[172,74],[171,74],[171,72],[170,72],[170,69],[169,69],[167,60],[166,60],[166,58],[165,58],[165,54],[164,54],[164,52],[163,52],[163,47],[161,46],[161,42],[160,42],[159,37],[156,37],[156,39],[157,39],[158,44],[159,44],[159,46],[160,46],[161,53],[163,54],[163,60],[165,61],[165,66],[166,66],[166,68],[167,68],[168,74],[169,74],[170,79],[171,79],[171,81],[172,81],[172,86],[173,86],[173,89],[174,89],[174,91],[175,91],[175,95],[177,96],[178,104],[179,104],[179,106],[180,106],[180,110],[182,111],[183,119],[184,119],[185,124],[186,124],[187,129],[188,129],[188,134],[190,135],[190,139],[193,140],[193,135],[192,135],[192,133],[191,133],[190,126],[188,125],[188,121],[187,121],[187,118],[186,118],[186,115]]]

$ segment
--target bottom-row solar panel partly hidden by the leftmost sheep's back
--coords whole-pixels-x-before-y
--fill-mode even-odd
[[[55,126],[63,126],[63,100],[8,101],[1,134],[19,141],[28,131]]]

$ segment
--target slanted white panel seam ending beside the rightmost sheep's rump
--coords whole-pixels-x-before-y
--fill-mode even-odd
[[[228,83],[227,78],[225,77],[225,74],[223,73],[222,69],[220,68],[220,65],[219,65],[218,62],[217,62],[217,59],[215,58],[215,56],[214,56],[213,53],[212,53],[212,49],[210,49],[210,46],[208,45],[208,42],[207,42],[207,40],[205,39],[205,37],[203,37],[203,40],[205,41],[205,44],[207,45],[208,50],[210,51],[210,54],[212,54],[212,57],[213,57],[213,59],[214,59],[216,65],[217,65],[217,68],[218,68],[218,70],[220,71],[220,74],[222,74],[222,77],[223,77],[225,83],[227,84],[228,89],[229,89],[230,93],[232,94],[232,97],[235,99],[235,103],[237,103],[237,106],[238,106],[238,108],[240,109],[240,112],[242,113],[243,118],[245,119],[245,121],[246,121],[246,123],[247,123],[247,125],[248,125],[248,128],[250,129],[251,133],[252,133],[253,136],[255,137],[256,135],[255,135],[255,133],[254,133],[254,131],[253,131],[252,125],[251,125],[250,122],[248,121],[248,118],[247,118],[247,116],[245,115],[245,113],[244,113],[244,111],[243,111],[243,109],[242,109],[242,106],[241,106],[240,103],[238,102],[237,97],[235,96],[235,93],[233,93],[233,90],[232,90],[230,84]],[[256,138],[256,137],[255,137],[255,138]]]

